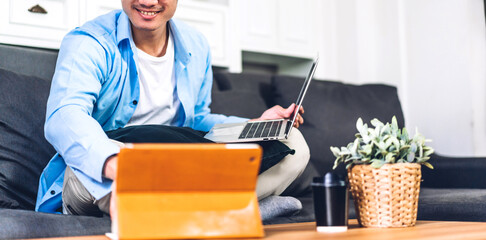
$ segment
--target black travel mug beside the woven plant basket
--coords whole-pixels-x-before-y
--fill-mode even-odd
[[[344,178],[329,172],[312,181],[318,232],[348,230],[348,190]]]

